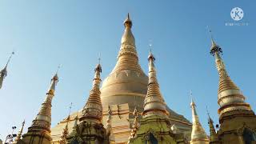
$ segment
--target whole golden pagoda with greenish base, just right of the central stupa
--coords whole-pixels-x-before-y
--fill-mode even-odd
[[[174,124],[170,122],[170,118],[168,117],[169,113],[166,110],[166,103],[160,92],[154,66],[155,58],[151,52],[148,60],[149,81],[146,98],[144,100],[142,119],[139,122],[139,126],[135,119],[134,129],[131,130],[128,144],[185,143],[186,138],[184,134],[174,134],[171,130],[171,126]]]

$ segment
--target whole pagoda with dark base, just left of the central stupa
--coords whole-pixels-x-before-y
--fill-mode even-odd
[[[107,144],[109,141],[102,124],[102,102],[99,90],[102,66],[98,64],[94,72],[93,88],[82,110],[82,117],[79,118],[79,124],[74,126],[72,134],[67,137],[67,143],[73,144],[80,141],[79,143],[86,144]]]

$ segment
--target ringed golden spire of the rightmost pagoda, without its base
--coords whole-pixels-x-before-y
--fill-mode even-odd
[[[211,32],[211,31],[210,31]],[[250,105],[245,102],[245,96],[234,84],[226,71],[224,61],[222,60],[222,48],[214,41],[211,36],[210,54],[215,58],[216,68],[218,70],[218,114],[222,115],[231,110],[251,110]]]

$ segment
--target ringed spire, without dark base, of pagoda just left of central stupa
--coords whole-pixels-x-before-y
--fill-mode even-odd
[[[84,119],[91,119],[98,123],[102,122],[102,101],[100,98],[101,91],[99,86],[102,82],[100,78],[100,73],[102,72],[102,66],[100,63],[94,69],[94,80],[93,80],[93,88],[90,90],[89,98],[86,102],[86,106],[84,106],[82,110],[82,118],[80,121]]]

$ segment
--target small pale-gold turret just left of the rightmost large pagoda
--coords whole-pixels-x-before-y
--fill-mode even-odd
[[[202,128],[201,123],[199,122],[198,114],[195,109],[196,105],[191,99],[190,103],[192,109],[192,133],[191,133],[191,144],[209,144],[209,138],[206,135],[206,131]]]

